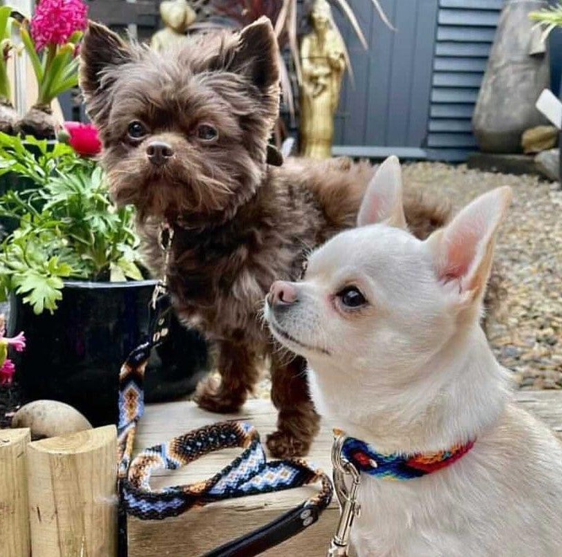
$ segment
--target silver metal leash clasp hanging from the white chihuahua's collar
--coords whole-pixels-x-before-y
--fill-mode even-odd
[[[332,468],[334,488],[339,501],[339,522],[336,533],[330,542],[328,557],[347,556],[349,534],[353,526],[353,519],[359,516],[361,507],[357,502],[357,490],[361,478],[359,471],[342,454],[341,449],[347,437],[343,431],[334,430],[334,444],[332,445]],[[348,489],[345,478],[350,476],[351,485]]]

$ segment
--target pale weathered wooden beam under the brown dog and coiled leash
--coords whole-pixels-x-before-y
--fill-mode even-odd
[[[516,399],[562,436],[562,390],[518,391]],[[147,407],[140,421],[136,446],[145,448],[162,443],[191,429],[223,419],[246,419],[252,422],[265,443],[265,436],[274,431],[277,411],[269,400],[261,399],[248,401],[239,414],[225,416],[201,410],[193,402],[153,404]],[[331,473],[331,444],[331,429],[328,424],[322,424],[308,460],[328,473]],[[185,484],[208,478],[239,453],[239,449],[227,449],[207,455],[184,469],[160,473],[158,477],[155,476],[153,487]],[[303,487],[227,500],[187,511],[182,516],[169,518],[164,522],[129,518],[129,557],[204,554],[217,545],[274,520],[284,511],[296,507],[314,489]],[[326,555],[326,548],[337,522],[337,513],[337,503],[332,501],[315,526],[268,551],[267,555]]]

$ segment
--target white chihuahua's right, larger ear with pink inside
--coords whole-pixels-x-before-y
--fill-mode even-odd
[[[456,281],[458,292],[467,301],[478,298],[485,290],[498,227],[511,200],[510,187],[489,191],[426,240],[440,281]]]

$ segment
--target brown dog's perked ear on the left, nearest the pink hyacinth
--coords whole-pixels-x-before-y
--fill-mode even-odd
[[[100,124],[108,109],[106,91],[113,80],[107,70],[131,62],[131,49],[106,26],[90,21],[80,45],[80,87],[88,115]]]

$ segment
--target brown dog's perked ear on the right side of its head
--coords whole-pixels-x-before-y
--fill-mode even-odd
[[[221,53],[216,69],[245,75],[262,93],[279,83],[279,47],[268,17],[262,16],[238,34],[229,52]]]

